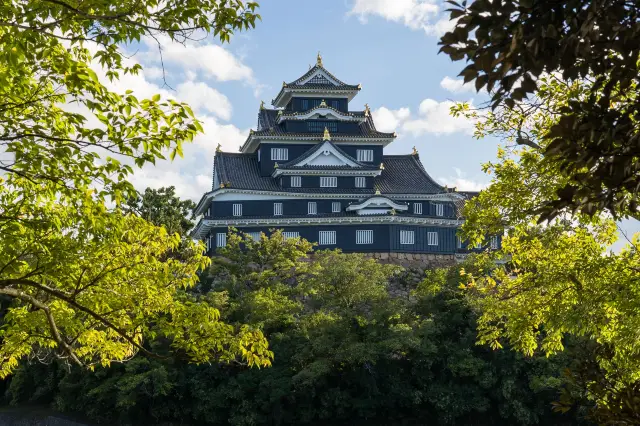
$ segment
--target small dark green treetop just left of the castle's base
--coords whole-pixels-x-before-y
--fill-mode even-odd
[[[123,206],[125,212],[133,213],[156,226],[164,226],[169,234],[186,236],[193,227],[189,217],[196,205],[191,200],[176,197],[176,189],[147,188],[144,194],[127,199]]]

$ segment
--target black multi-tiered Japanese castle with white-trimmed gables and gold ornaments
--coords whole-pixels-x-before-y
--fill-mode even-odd
[[[456,235],[473,193],[438,184],[416,149],[385,155],[395,133],[376,130],[367,105],[350,109],[361,86],[315,66],[283,83],[274,108],[260,105],[257,130],[240,152],[214,157],[213,187],[195,213],[193,235],[212,254],[229,227],[257,238],[282,229],[318,249],[344,252],[465,254]],[[488,245],[498,248],[499,237]]]

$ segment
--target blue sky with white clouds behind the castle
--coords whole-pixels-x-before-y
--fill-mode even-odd
[[[269,105],[282,87],[304,74],[321,53],[323,64],[347,84],[362,84],[350,109],[367,103],[376,127],[396,131],[387,154],[415,146],[426,170],[441,184],[480,190],[490,179],[481,171],[495,158],[498,140],[473,137],[473,123],[453,118],[458,101],[486,100],[457,77],[461,62],[438,54],[438,36],[450,28],[440,0],[262,0],[262,21],[236,33],[230,44],[213,36],[187,45],[161,39],[130,46],[129,61],[144,71],[114,82],[136,95],[160,93],[189,103],[205,133],[184,149],[184,158],[162,161],[135,173],[146,187],[173,185],[198,201],[211,189],[213,155],[220,144],[237,151],[256,128],[260,101]],[[640,231],[637,221],[623,224]]]

